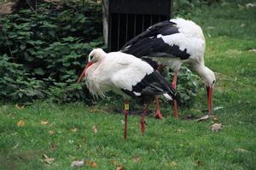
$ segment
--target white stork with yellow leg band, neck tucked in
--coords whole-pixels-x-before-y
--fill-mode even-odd
[[[113,91],[125,97],[125,135],[129,99],[131,97],[149,99],[163,94],[166,99],[177,99],[176,90],[168,85],[158,71],[142,59],[131,54],[113,52],[106,54],[101,48],[92,50],[88,63],[79,77],[81,82],[85,77],[90,94],[105,97],[106,92]],[[148,111],[149,100],[141,118],[141,130],[144,133],[144,116]]]

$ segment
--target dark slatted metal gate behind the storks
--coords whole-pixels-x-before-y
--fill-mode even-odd
[[[104,38],[109,51],[163,20],[170,20],[172,0],[104,0]]]

